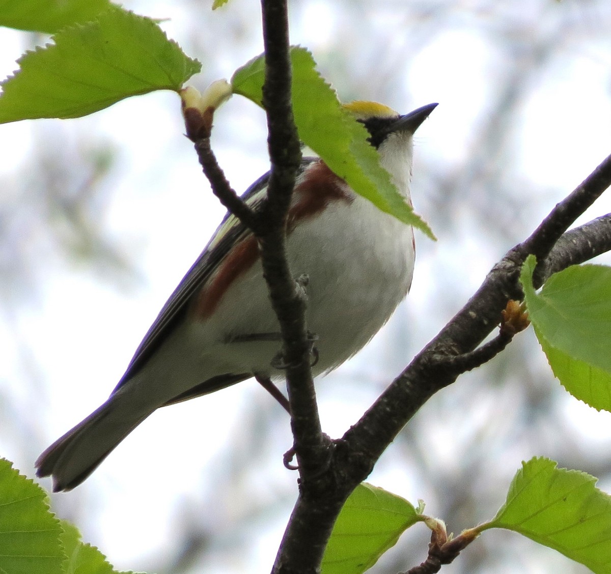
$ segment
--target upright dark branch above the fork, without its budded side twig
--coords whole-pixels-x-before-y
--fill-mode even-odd
[[[310,368],[312,343],[305,324],[305,288],[289,269],[285,250],[288,208],[301,163],[299,137],[291,105],[291,60],[286,0],[262,0],[265,43],[263,107],[268,118],[271,173],[267,200],[258,213],[257,225],[263,274],[280,322],[284,341],[291,426],[302,488],[324,464],[328,440],[323,437]],[[296,269],[303,272],[303,269]]]

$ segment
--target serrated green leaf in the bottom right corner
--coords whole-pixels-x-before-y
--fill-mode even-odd
[[[611,496],[596,479],[557,468],[553,460],[522,463],[498,514],[480,531],[506,528],[554,548],[596,574],[611,573]]]

